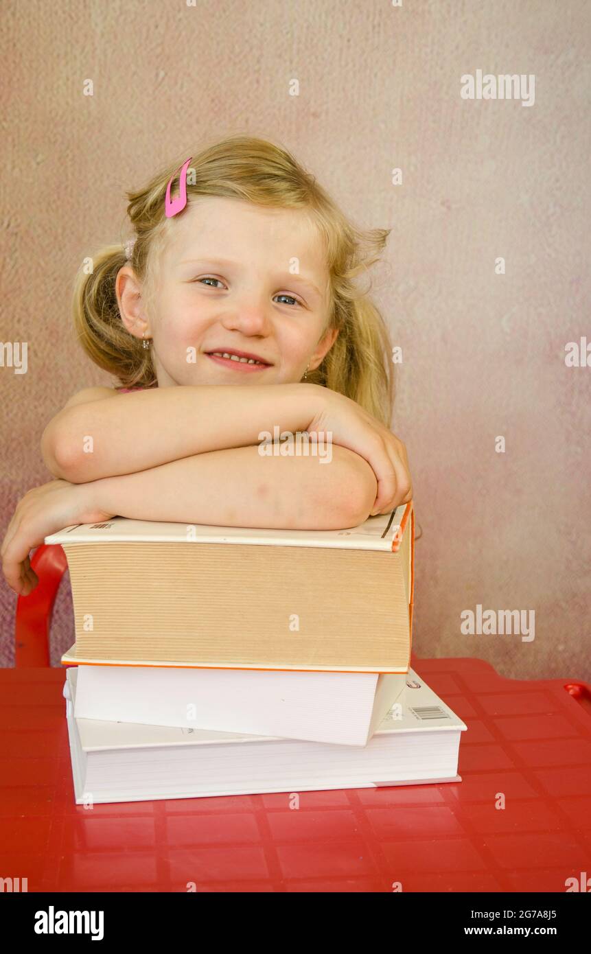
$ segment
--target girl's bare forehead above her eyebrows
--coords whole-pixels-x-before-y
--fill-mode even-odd
[[[297,258],[308,268],[326,271],[320,232],[304,209],[253,205],[241,199],[200,196],[169,221],[167,246],[175,258],[219,255],[226,259],[261,258],[273,262]]]

